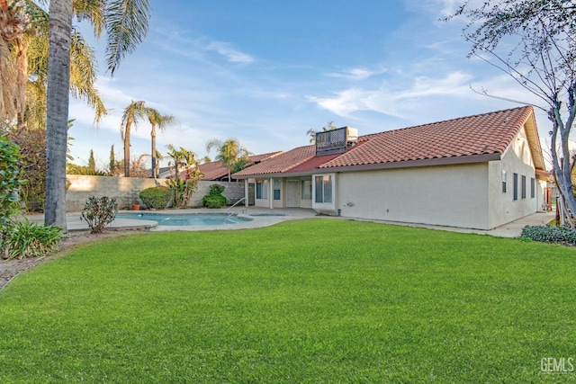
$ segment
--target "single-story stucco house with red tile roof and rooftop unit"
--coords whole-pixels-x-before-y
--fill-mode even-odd
[[[258,207],[491,229],[545,206],[548,173],[530,106],[357,136],[319,132],[234,178]]]

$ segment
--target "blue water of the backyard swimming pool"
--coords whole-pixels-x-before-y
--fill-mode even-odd
[[[252,221],[229,213],[118,213],[118,219],[154,220],[159,226],[221,226]]]

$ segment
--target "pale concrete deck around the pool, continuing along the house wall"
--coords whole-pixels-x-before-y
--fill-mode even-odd
[[[133,210],[122,210],[122,213],[135,213]],[[148,210],[143,212],[151,213]],[[182,231],[199,231],[199,230],[231,230],[231,229],[249,229],[249,228],[263,228],[275,225],[277,223],[294,220],[294,219],[314,219],[314,218],[328,218],[328,219],[345,219],[357,221],[373,221],[383,224],[401,225],[418,228],[430,228],[438,230],[446,230],[451,232],[461,233],[474,233],[479,235],[490,235],[494,237],[519,237],[527,225],[542,225],[550,222],[555,217],[555,212],[536,212],[528,215],[525,218],[518,219],[509,224],[505,224],[498,228],[491,230],[470,229],[470,228],[453,228],[442,226],[431,226],[426,224],[403,223],[394,221],[384,221],[375,219],[358,219],[358,218],[345,218],[333,216],[318,216],[314,210],[307,210],[302,208],[286,208],[270,210],[267,208],[257,207],[238,207],[232,210],[209,210],[209,209],[190,209],[190,210],[156,210],[153,213],[167,213],[167,214],[186,214],[186,213],[233,213],[238,216],[248,217],[252,221],[238,223],[238,224],[225,224],[225,225],[211,225],[211,226],[158,226],[156,221],[142,220],[142,219],[115,219],[107,228],[110,230],[119,229],[133,229],[144,231],[167,231],[167,230],[182,230]],[[43,222],[43,215],[31,215],[28,217],[34,222]],[[87,231],[88,225],[80,219],[80,213],[67,214],[67,229],[68,232]]]

